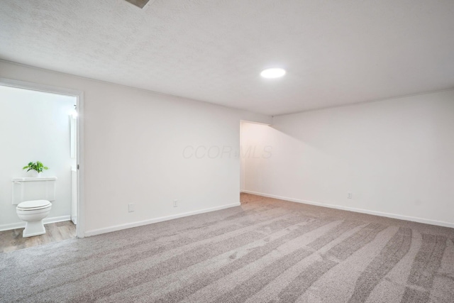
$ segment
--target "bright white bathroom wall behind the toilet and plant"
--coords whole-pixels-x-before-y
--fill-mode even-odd
[[[0,85],[0,230],[25,226],[11,204],[11,178],[31,177],[22,170],[40,160],[55,176],[57,196],[48,220],[71,213],[70,119],[74,97]],[[62,218],[60,218],[62,219]]]

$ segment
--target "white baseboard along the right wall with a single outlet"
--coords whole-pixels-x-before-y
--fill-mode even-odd
[[[419,222],[419,223],[424,223],[424,224],[431,224],[431,225],[454,228],[454,223],[449,223],[449,222],[444,222],[444,221],[423,219],[423,218],[417,218],[414,216],[403,216],[400,214],[389,214],[389,213],[385,213],[385,212],[381,212],[381,211],[370,211],[367,209],[357,209],[355,207],[348,207],[348,206],[341,206],[341,205],[334,205],[334,204],[324,204],[321,202],[314,202],[314,201],[308,201],[308,200],[302,200],[302,199],[294,199],[294,198],[289,198],[289,197],[277,196],[275,194],[264,194],[262,192],[251,192],[250,190],[243,190],[241,192],[244,192],[245,194],[255,194],[257,196],[281,199],[281,200],[286,200],[286,201],[290,201],[290,202],[323,206],[323,207],[328,207],[330,209],[341,209],[344,211],[354,211],[354,212],[359,212],[362,214],[373,214],[375,216],[386,216],[387,218],[392,218],[392,219],[400,219],[400,220],[413,221],[413,222]]]

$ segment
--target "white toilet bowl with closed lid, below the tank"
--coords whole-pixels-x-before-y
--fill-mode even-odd
[[[48,200],[31,200],[18,204],[16,212],[19,219],[26,221],[23,238],[38,236],[45,233],[43,219],[48,216],[52,203]]]

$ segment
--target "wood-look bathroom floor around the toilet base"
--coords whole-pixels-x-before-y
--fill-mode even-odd
[[[45,234],[22,238],[23,228],[0,231],[0,253],[39,246],[76,237],[76,226],[72,221],[45,224]]]

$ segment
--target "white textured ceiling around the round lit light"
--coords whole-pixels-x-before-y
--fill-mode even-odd
[[[1,59],[263,114],[454,87],[453,0],[0,1]]]

